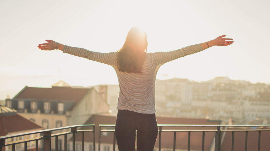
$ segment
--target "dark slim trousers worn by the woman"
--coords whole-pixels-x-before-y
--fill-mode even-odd
[[[137,130],[138,151],[153,151],[157,140],[156,114],[118,110],[115,136],[119,151],[134,151]]]

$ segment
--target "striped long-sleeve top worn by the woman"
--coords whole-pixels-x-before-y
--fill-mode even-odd
[[[159,67],[171,60],[202,51],[200,44],[170,52],[147,53],[142,73],[121,72],[117,68],[117,52],[100,53],[64,45],[63,52],[89,60],[108,64],[116,71],[119,82],[117,109],[153,114],[155,107],[155,83]]]

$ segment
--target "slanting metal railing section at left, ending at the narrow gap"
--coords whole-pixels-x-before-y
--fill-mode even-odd
[[[92,130],[78,130],[79,127],[92,127]],[[68,130],[66,132],[61,133],[55,133],[58,130]],[[51,151],[52,145],[51,145],[51,138],[55,137],[55,151],[58,151],[58,136],[64,135],[64,151],[67,151],[67,135],[72,134],[72,150],[75,151],[75,133],[81,132],[82,133],[82,150],[84,150],[84,132],[93,132],[93,149],[95,150],[95,125],[72,125],[67,127],[60,127],[60,128],[52,128],[48,130],[40,130],[40,131],[32,131],[32,132],[25,132],[25,133],[19,133],[19,134],[13,134],[13,135],[6,135],[0,137],[0,151],[3,150],[5,146],[11,146],[12,145],[12,151],[15,151],[15,145],[24,143],[24,150],[27,151],[27,143],[35,141],[35,150],[39,150],[39,140],[43,140],[43,151]],[[35,138],[29,138],[29,139],[22,139],[17,141],[11,141],[11,142],[5,142],[6,139],[9,138],[16,138],[19,136],[26,136],[26,135],[32,135],[32,134],[40,134],[42,136],[35,137]]]

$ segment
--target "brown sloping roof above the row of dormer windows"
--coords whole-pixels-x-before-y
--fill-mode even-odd
[[[89,88],[35,88],[26,86],[13,99],[61,100],[78,102],[87,94],[89,90]]]

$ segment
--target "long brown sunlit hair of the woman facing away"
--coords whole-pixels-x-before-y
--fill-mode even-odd
[[[118,70],[127,73],[142,73],[146,52],[146,32],[139,27],[131,28],[123,47],[117,51]]]

